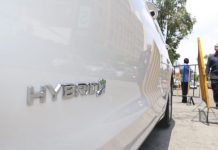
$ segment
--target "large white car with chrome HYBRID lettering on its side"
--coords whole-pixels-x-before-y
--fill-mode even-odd
[[[170,124],[172,65],[152,4],[10,0],[0,10],[1,150],[137,149]]]

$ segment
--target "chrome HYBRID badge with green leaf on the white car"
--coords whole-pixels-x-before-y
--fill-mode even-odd
[[[27,105],[33,105],[35,99],[39,99],[40,103],[46,101],[46,92],[51,94],[52,100],[56,101],[58,93],[62,89],[62,98],[69,99],[79,95],[96,95],[97,97],[105,93],[106,80],[102,79],[99,82],[78,83],[78,84],[58,84],[55,88],[51,85],[40,87],[39,92],[35,92],[33,87],[27,87]]]

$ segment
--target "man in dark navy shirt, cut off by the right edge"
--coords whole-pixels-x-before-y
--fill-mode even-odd
[[[206,75],[208,77],[210,74],[213,99],[216,107],[218,107],[218,44],[215,45],[214,49],[216,51],[215,54],[208,57]]]

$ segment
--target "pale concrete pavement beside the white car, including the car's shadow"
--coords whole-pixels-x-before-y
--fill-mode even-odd
[[[211,90],[209,96],[214,105]],[[181,97],[173,96],[171,126],[167,129],[154,128],[140,150],[217,150],[218,109],[210,110],[207,124],[205,103],[200,98],[193,100],[195,105],[187,105],[181,103]],[[203,111],[199,113],[199,109]]]

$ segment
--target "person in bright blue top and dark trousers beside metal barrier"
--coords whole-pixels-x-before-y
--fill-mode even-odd
[[[182,85],[182,103],[187,103],[187,94],[188,94],[188,82],[189,78],[189,59],[184,59],[184,64],[180,66],[180,81]]]

